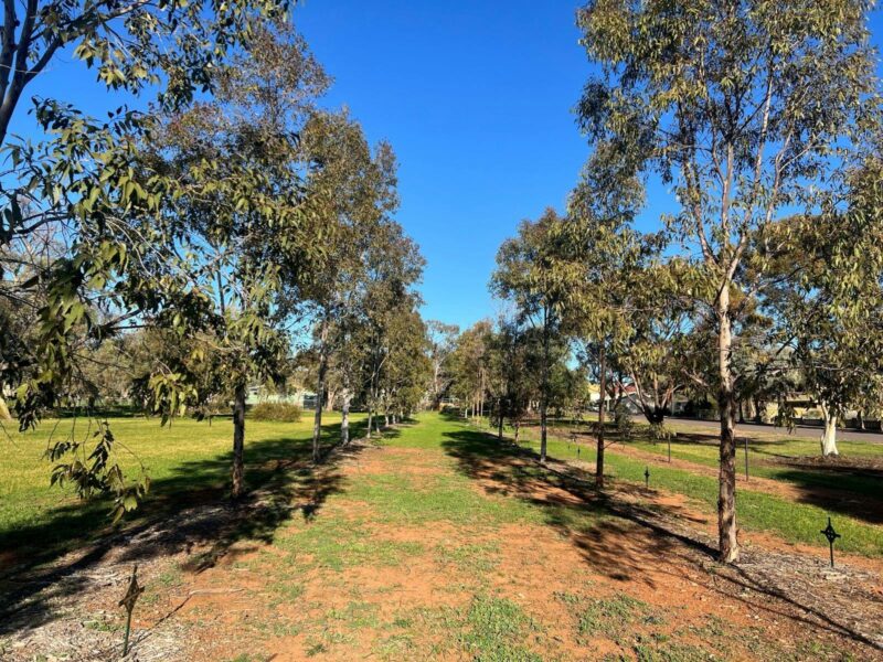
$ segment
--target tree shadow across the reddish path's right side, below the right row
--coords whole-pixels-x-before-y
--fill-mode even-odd
[[[532,450],[488,434],[461,430],[445,436],[443,446],[457,459],[461,473],[479,481],[489,493],[514,496],[542,508],[546,524],[571,541],[594,570],[607,577],[638,580],[652,588],[649,570],[688,576],[712,592],[769,612],[774,618],[789,618],[883,650],[850,619],[842,618],[839,608],[827,609],[817,600],[790,590],[789,573],[799,574],[795,569],[800,565],[796,558],[786,564],[784,573],[775,563],[770,572],[770,566],[763,563],[763,552],[751,554],[756,558],[749,566],[720,566],[712,560],[716,555],[713,542],[690,527],[689,516],[681,509],[634,502],[635,496],[652,494],[642,487],[618,483],[615,492],[600,492],[578,467],[553,462],[554,468],[543,469]],[[800,560],[806,565],[805,559]],[[710,566],[715,568],[713,575],[709,575]],[[688,568],[692,568],[691,575],[685,574]]]

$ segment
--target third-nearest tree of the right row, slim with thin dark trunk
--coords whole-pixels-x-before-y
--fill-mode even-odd
[[[518,236],[507,239],[497,252],[491,291],[514,303],[519,323],[535,328],[541,335],[540,365],[540,460],[546,460],[550,371],[553,345],[562,338],[562,308],[570,296],[572,268],[564,247],[564,220],[546,210],[536,221],[523,221]]]

